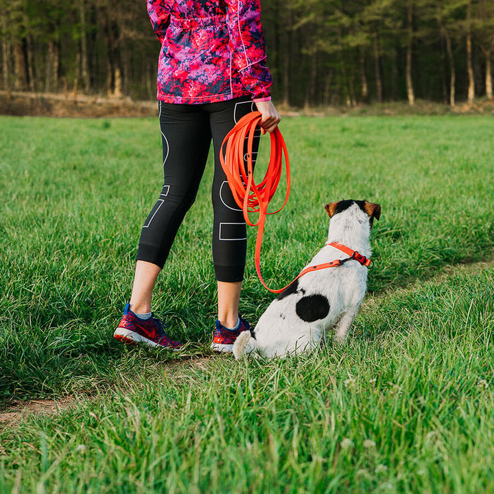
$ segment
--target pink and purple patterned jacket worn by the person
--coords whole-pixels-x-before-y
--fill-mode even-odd
[[[147,0],[156,36],[158,99],[213,103],[269,99],[259,0]]]

